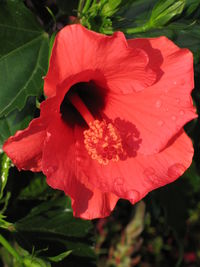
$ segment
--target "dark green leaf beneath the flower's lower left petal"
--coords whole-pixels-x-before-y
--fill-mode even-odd
[[[28,232],[49,232],[66,237],[84,237],[91,230],[89,221],[76,219],[66,196],[45,201],[33,208],[22,220],[16,223],[17,230]]]

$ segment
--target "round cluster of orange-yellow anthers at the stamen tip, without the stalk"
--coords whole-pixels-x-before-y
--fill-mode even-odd
[[[85,148],[92,159],[103,165],[107,165],[111,160],[119,161],[123,147],[120,135],[112,123],[94,120],[83,134]]]

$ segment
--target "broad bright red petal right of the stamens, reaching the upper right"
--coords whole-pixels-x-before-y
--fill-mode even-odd
[[[141,139],[138,152],[157,153],[183,125],[197,117],[190,96],[194,87],[193,58],[189,50],[178,48],[164,37],[132,40],[131,44],[144,49],[152,69],[156,70],[158,63],[163,73],[141,92],[110,92],[104,113],[112,120],[120,118],[135,125]]]

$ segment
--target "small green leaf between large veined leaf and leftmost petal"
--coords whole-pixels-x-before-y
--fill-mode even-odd
[[[0,118],[0,148],[8,137],[28,126],[33,118],[35,109],[35,98],[31,97],[21,111],[13,111],[9,115]]]

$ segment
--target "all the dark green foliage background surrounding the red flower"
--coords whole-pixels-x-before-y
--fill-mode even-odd
[[[56,32],[72,22],[128,38],[165,35],[190,49],[199,113],[199,0],[0,0],[0,148],[39,115]],[[18,172],[1,153],[0,266],[199,266],[199,125],[196,119],[185,127],[195,155],[183,177],[145,204],[119,201],[109,218],[95,222],[74,218],[69,198],[49,188],[43,174]]]

